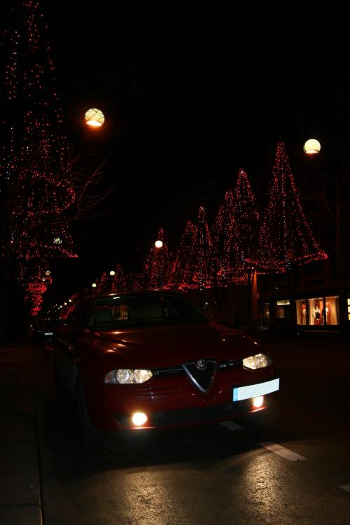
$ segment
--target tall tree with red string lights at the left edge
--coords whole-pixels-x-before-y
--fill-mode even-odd
[[[35,262],[39,272],[51,257],[76,256],[63,219],[75,192],[43,18],[29,0],[14,3],[9,18],[0,90],[2,326],[16,295],[13,283],[30,302]]]

